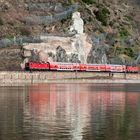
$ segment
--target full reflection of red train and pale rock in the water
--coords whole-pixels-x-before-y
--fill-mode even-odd
[[[135,107],[139,95],[123,91],[100,91],[99,88],[102,86],[92,84],[32,85],[29,87],[30,110],[27,114],[30,112],[36,129],[44,134],[62,134],[63,128],[64,134],[70,133],[71,137],[82,139],[91,124],[94,124],[92,129],[97,133],[106,126],[112,127],[113,123],[116,128],[123,121],[127,103]]]

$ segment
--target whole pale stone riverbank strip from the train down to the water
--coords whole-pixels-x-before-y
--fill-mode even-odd
[[[140,83],[140,74],[97,72],[15,72],[1,71],[0,86],[34,83]]]

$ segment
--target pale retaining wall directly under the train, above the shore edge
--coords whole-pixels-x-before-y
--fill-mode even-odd
[[[109,73],[94,72],[0,72],[0,85],[3,83],[44,83],[51,81],[71,81],[77,78],[80,81],[90,80],[101,82],[103,80],[136,80],[140,83],[140,74],[114,73],[109,77]],[[104,83],[104,82],[103,82]]]

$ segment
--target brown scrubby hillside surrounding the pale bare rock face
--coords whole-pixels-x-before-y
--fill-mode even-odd
[[[139,0],[0,0],[0,70],[20,69],[22,37],[26,43],[41,34],[67,35],[74,11],[81,13],[93,50],[107,46],[107,63],[139,64],[139,9]]]

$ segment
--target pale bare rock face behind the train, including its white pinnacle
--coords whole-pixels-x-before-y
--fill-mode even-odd
[[[92,44],[83,33],[83,20],[80,13],[72,16],[70,31],[76,31],[69,37],[40,36],[42,43],[29,43],[23,47],[23,56],[33,61],[86,63]]]

